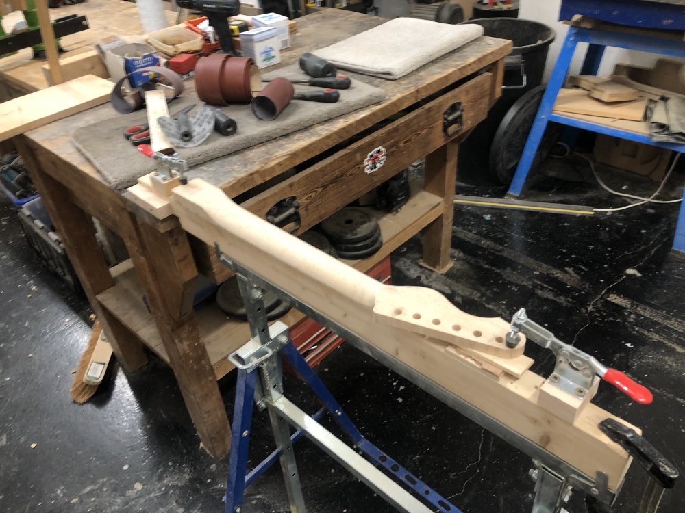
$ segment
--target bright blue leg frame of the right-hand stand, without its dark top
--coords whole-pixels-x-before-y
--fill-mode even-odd
[[[655,4],[660,5],[660,4]],[[634,142],[650,144],[667,150],[685,153],[685,144],[672,144],[664,142],[652,142],[649,135],[616,129],[604,124],[595,124],[584,120],[553,114],[554,102],[562,88],[566,75],[571,66],[571,58],[575,52],[576,45],[580,42],[589,43],[588,51],[585,56],[581,75],[597,75],[599,64],[604,55],[606,47],[619,47],[630,50],[640,50],[650,53],[660,53],[671,57],[685,57],[685,42],[677,40],[662,39],[653,36],[638,36],[624,32],[606,31],[601,29],[586,29],[581,27],[569,27],[569,31],[564,39],[564,44],[557,58],[554,69],[547,83],[547,89],[540,102],[538,113],[536,114],[530,134],[523,148],[521,160],[516,167],[514,179],[507,192],[508,196],[521,196],[523,184],[530,172],[535,154],[538,150],[540,140],[543,138],[547,123],[555,122],[564,124],[574,129],[584,129],[605,135],[619,137]],[[685,193],[684,193],[685,195]],[[675,228],[675,239],[673,249],[685,252],[685,202],[681,204],[677,226]]]

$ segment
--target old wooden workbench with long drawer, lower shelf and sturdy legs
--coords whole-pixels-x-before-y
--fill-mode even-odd
[[[299,18],[283,65],[382,21],[336,9]],[[510,41],[484,37],[397,81],[351,75],[383,88],[386,101],[198,166],[188,178],[203,176],[229,196],[243,198],[242,205],[258,215],[297,196],[301,232],[427,156],[425,180],[414,184],[410,202],[398,213],[378,214],[382,249],[348,263],[366,271],[422,231],[425,265],[445,270],[451,265],[458,142],[499,96],[503,57],[510,49]],[[463,127],[447,137],[443,111],[456,102],[463,108]],[[249,328],[216,306],[193,310],[197,270],[220,280],[225,269],[205,244],[191,244],[175,217],[155,217],[110,189],[73,146],[69,133],[103,116],[112,116],[106,105],[26,133],[17,145],[117,359],[135,371],[145,364],[147,346],[169,363],[204,447],[223,456],[230,428],[216,380],[232,369],[226,357],[247,341]],[[386,148],[388,160],[365,174],[364,157],[377,146]],[[132,151],[121,158],[125,165],[142,157]],[[292,168],[299,172],[279,181]],[[254,191],[258,185],[265,190]],[[108,269],[91,216],[122,237],[129,260]],[[282,320],[299,319],[301,314],[292,312]]]

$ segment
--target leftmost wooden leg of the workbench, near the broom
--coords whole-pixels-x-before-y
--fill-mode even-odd
[[[99,250],[90,215],[71,201],[64,185],[40,170],[40,162],[32,148],[18,138],[15,143],[50,219],[60,234],[81,287],[112,345],[116,360],[126,371],[136,371],[147,362],[142,344],[128,328],[102,308],[97,300],[97,295],[114,287],[115,282]]]

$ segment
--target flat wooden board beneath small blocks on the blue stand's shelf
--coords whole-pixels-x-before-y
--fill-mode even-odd
[[[647,98],[623,103],[603,103],[590,98],[587,91],[579,89],[562,89],[557,95],[553,112],[569,114],[585,114],[601,118],[625,119],[642,121],[647,108]]]

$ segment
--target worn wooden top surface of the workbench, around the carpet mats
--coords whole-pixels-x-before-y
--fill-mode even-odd
[[[384,21],[384,18],[338,9],[323,10],[298,18],[297,34],[292,35],[292,47],[282,52],[281,66],[294,64],[303,52],[325,47],[371,29]],[[412,44],[410,37],[408,44]],[[482,37],[396,81],[345,72],[353,79],[385,90],[386,101],[215,159],[193,168],[187,176],[189,179],[202,177],[224,189],[229,196],[236,196],[298,163],[320,155],[323,151],[413,105],[416,101],[482,70],[484,66],[508,54],[510,49],[509,40]],[[192,85],[188,86],[188,89],[192,90]],[[112,118],[114,115],[115,112],[110,105],[102,105],[30,131],[26,135],[45,150],[103,183],[97,170],[72,144],[70,134],[77,127]],[[119,134],[113,136],[119,137]],[[130,155],[122,155],[122,161],[125,162],[129,158],[144,157],[132,150]]]

